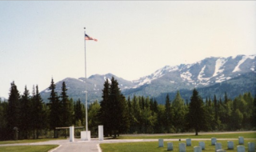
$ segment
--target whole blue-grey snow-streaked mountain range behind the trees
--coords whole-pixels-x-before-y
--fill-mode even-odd
[[[85,87],[88,91],[88,101],[94,102],[95,100],[102,100],[102,89],[106,78],[110,79],[112,76],[118,80],[119,88],[122,94],[127,96],[143,95],[158,98],[162,94],[177,92],[177,90],[192,90],[194,88],[206,88],[214,86],[218,83],[229,82],[235,83],[239,87],[245,83],[238,83],[233,81],[234,78],[240,78],[239,81],[244,81],[243,74],[255,73],[256,55],[238,55],[229,58],[205,58],[193,64],[181,64],[178,66],[164,66],[156,70],[153,74],[139,78],[132,82],[126,81],[123,78],[118,78],[114,74],[99,75],[95,74],[87,78],[86,86],[84,83],[85,78],[66,78],[56,83],[57,92],[61,92],[62,82],[66,82],[67,93],[70,98],[75,101],[78,98],[81,101],[85,100]],[[247,78],[247,82],[256,84],[254,77]],[[219,86],[221,87],[221,86]],[[254,88],[251,90],[251,88]],[[225,90],[229,91],[229,90]],[[256,90],[254,86],[250,86],[242,91]],[[238,93],[238,94],[242,94]],[[42,98],[47,102],[49,98],[49,90],[41,92]],[[237,94],[234,93],[234,94]]]

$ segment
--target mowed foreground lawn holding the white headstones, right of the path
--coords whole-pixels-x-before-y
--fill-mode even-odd
[[[215,134],[214,134],[215,135]],[[186,143],[185,141],[182,141]],[[198,146],[199,141],[192,140],[192,146],[186,146],[187,152],[194,152],[194,146]],[[201,141],[206,143],[206,149],[203,152],[213,152],[215,151],[215,146],[211,146],[210,141]],[[218,141],[222,143],[222,149],[228,152],[236,152],[238,146],[238,140],[234,140],[234,150],[227,150],[227,140]],[[246,151],[248,151],[248,142],[256,142],[256,139],[245,140],[244,146]],[[178,151],[178,144],[180,142],[173,142],[174,152]],[[158,142],[125,142],[125,143],[102,143],[100,144],[102,152],[161,152],[167,151],[167,142],[164,142],[164,147],[158,147]]]

